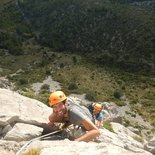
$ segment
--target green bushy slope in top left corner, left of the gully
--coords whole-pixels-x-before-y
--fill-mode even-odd
[[[0,1],[0,49],[13,55],[23,54],[22,43],[32,37],[14,0]]]

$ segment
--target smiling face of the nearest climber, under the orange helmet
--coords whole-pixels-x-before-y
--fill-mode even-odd
[[[58,117],[63,117],[66,113],[66,107],[63,102],[60,102],[53,106],[53,111],[57,114]]]

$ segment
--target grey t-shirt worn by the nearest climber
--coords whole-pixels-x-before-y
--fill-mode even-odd
[[[92,114],[86,107],[76,104],[71,98],[67,99],[67,106],[71,124],[81,126],[84,119],[90,119],[94,123]]]

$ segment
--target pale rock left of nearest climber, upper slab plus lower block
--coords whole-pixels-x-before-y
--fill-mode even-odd
[[[0,136],[9,141],[26,141],[42,134],[52,109],[45,104],[7,89],[0,89]]]

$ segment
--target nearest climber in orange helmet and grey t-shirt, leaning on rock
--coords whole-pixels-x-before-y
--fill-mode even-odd
[[[75,141],[88,142],[100,135],[100,131],[95,126],[94,119],[86,107],[74,103],[74,100],[66,97],[62,91],[51,93],[49,100],[49,104],[53,108],[53,113],[49,116],[48,125],[50,127],[54,127],[55,123],[64,123],[64,126],[73,124],[76,126],[76,130],[78,128],[81,128],[81,131],[85,130],[79,135],[73,134]]]

